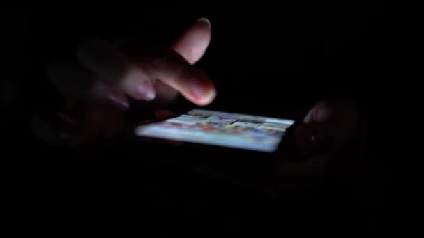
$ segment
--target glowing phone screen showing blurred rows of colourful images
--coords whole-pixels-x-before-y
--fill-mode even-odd
[[[274,152],[294,120],[193,109],[136,128],[137,136]]]

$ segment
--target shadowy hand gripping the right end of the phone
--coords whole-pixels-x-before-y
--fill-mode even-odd
[[[308,186],[319,181],[331,166],[358,159],[363,150],[364,129],[351,100],[317,102],[293,131],[294,150],[301,153],[292,161],[280,161],[281,187],[293,187],[291,182]]]

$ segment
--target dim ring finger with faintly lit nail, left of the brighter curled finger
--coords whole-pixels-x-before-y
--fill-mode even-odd
[[[128,109],[129,102],[121,91],[93,79],[93,74],[68,61],[50,62],[47,76],[65,97],[68,107],[80,100],[95,100],[109,102],[121,110]]]

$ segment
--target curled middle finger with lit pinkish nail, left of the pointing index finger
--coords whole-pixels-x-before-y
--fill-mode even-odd
[[[149,75],[108,42],[84,40],[77,48],[77,59],[99,79],[121,88],[137,100],[153,100],[156,97]]]

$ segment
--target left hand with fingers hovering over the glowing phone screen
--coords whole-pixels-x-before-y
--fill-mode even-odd
[[[63,113],[40,113],[33,130],[47,143],[81,145],[113,136],[128,121],[163,116],[181,94],[190,102],[213,101],[215,86],[193,64],[211,40],[209,21],[190,26],[172,47],[142,45],[135,40],[85,40],[77,63],[52,61],[47,76],[66,99]],[[143,118],[144,117],[144,118]]]

